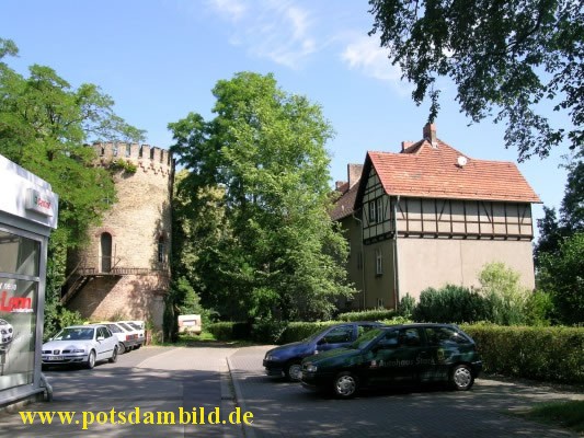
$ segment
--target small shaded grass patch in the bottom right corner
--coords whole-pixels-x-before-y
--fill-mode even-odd
[[[527,418],[566,427],[579,434],[584,433],[584,400],[538,404],[524,415]]]

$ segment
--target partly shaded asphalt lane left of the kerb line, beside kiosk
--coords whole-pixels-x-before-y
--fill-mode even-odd
[[[94,422],[82,429],[84,413],[95,416],[145,412],[192,412],[219,407],[234,408],[229,389],[226,356],[232,348],[147,347],[119,356],[116,364],[100,364],[94,369],[55,368],[46,372],[54,387],[54,401],[35,403],[22,411],[76,412],[71,424],[54,420],[24,425],[19,413],[0,415],[0,437],[242,437],[241,426],[194,424],[112,424]],[[117,417],[119,418],[119,417]],[[117,419],[116,419],[117,420]]]

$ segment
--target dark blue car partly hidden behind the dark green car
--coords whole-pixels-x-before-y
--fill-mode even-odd
[[[284,376],[288,380],[300,380],[300,362],[305,357],[347,346],[364,333],[381,325],[371,321],[340,323],[304,341],[272,348],[264,357],[265,372],[268,376]]]

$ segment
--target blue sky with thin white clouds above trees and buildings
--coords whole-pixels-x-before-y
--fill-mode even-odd
[[[167,125],[188,112],[211,118],[210,90],[239,71],[273,72],[288,93],[318,103],[335,129],[328,143],[333,181],[367,150],[398,152],[402,140],[422,138],[427,105],[417,107],[411,85],[387,60],[366,0],[2,0],[0,37],[13,39],[22,73],[46,65],[78,87],[95,83],[115,111],[147,130],[149,145],[172,143]],[[442,81],[438,138],[465,154],[516,162],[503,146],[503,125],[469,125]],[[561,124],[568,118],[553,115]],[[559,169],[568,148],[519,163],[548,206],[558,207],[565,185]],[[535,218],[542,216],[534,207]]]

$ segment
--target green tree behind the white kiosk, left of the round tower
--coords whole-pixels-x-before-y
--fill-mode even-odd
[[[3,61],[16,45],[0,38],[0,153],[50,183],[59,195],[59,228],[49,240],[45,333],[58,327],[67,251],[82,245],[115,199],[111,175],[92,165],[85,146],[96,140],[140,140],[144,132],[113,112],[114,102],[93,84],[77,90],[46,66],[28,77]]]

